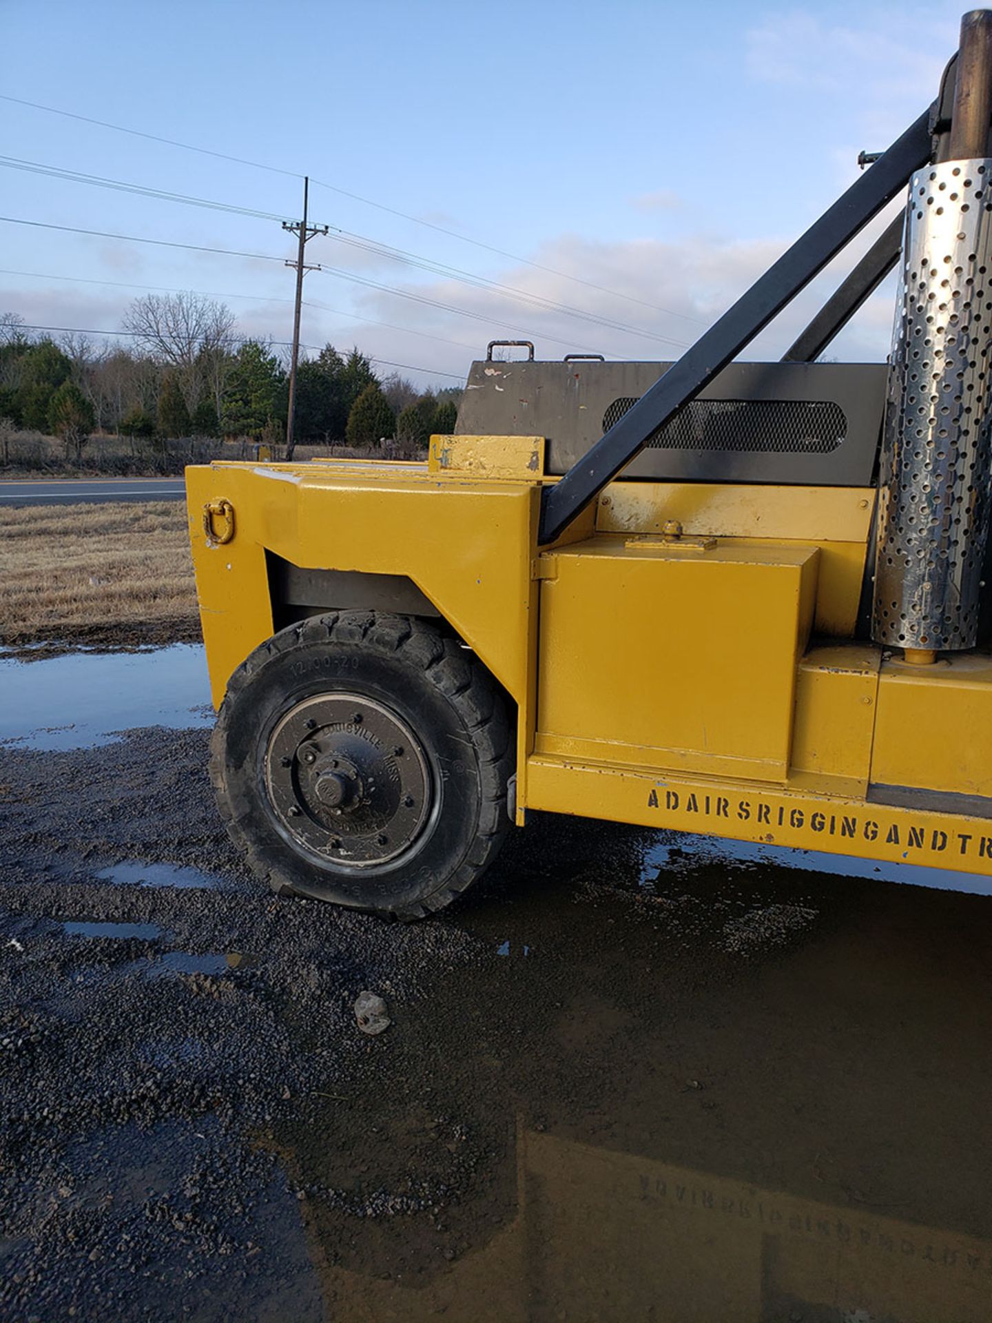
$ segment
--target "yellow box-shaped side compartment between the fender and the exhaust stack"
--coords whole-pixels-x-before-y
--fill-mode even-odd
[[[604,536],[544,556],[536,747],[784,781],[817,556]]]

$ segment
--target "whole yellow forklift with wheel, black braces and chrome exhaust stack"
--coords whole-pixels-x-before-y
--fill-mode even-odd
[[[447,905],[529,810],[992,877],[992,12],[672,364],[495,357],[426,462],[186,470],[212,778],[279,893]],[[780,363],[735,361],[898,196]],[[888,364],[816,360],[895,266]]]

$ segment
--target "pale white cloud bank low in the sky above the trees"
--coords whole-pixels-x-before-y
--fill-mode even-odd
[[[884,222],[885,217],[862,237],[860,250]],[[792,237],[738,241],[717,233],[673,241],[640,238],[603,242],[561,234],[532,251],[533,262],[541,269],[512,262],[500,267],[495,261],[488,269],[493,280],[521,291],[522,299],[505,290],[480,288],[451,278],[430,278],[409,267],[397,269],[389,277],[384,275],[382,280],[415,299],[312,274],[304,294],[303,340],[312,345],[331,340],[344,349],[357,344],[373,357],[406,365],[401,370],[423,385],[454,384],[450,378],[429,374],[426,369],[463,377],[470,360],[481,357],[491,339],[533,339],[538,357],[546,359],[559,359],[573,351],[622,359],[672,359],[767,270]],[[755,341],[746,357],[779,357],[854,257],[839,259],[836,270],[827,273],[803,294]],[[258,286],[257,277],[249,278],[255,266],[259,263],[246,261],[242,273],[242,263],[231,261],[222,278],[214,270],[209,280],[206,277],[186,280],[188,273],[173,273],[172,279],[165,273],[159,279],[149,273],[147,280],[149,284],[160,280],[176,287],[189,283],[192,288],[217,291],[217,296],[225,298],[225,290],[242,287],[247,292],[253,284]],[[556,273],[570,273],[578,279]],[[290,288],[283,288],[276,280],[267,287],[279,296],[290,295]],[[36,324],[115,329],[120,325],[124,308],[138,294],[139,290],[79,288],[71,284],[32,284],[25,288],[20,282],[9,282],[7,290],[0,291],[0,310],[21,312]],[[528,295],[532,298],[528,299]],[[422,299],[458,307],[475,316],[462,316],[450,308],[418,302]],[[319,307],[321,303],[328,307]],[[548,304],[566,304],[587,316],[583,319]],[[230,298],[230,307],[243,335],[288,339],[288,303]],[[356,316],[393,325],[354,320],[347,315],[349,308]],[[872,300],[844,332],[837,348],[829,352],[841,357],[882,359],[889,348],[890,325],[889,292]],[[390,369],[384,366],[382,370]]]

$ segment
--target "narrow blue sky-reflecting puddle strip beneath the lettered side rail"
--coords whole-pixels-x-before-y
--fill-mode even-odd
[[[729,864],[734,868],[766,867],[799,868],[835,877],[866,877],[872,881],[903,882],[931,886],[944,892],[992,896],[992,880],[977,873],[950,873],[921,864],[888,864],[849,855],[831,855],[817,849],[791,849],[786,845],[759,845],[747,840],[725,840],[720,836],[679,836],[649,845],[644,852],[640,886],[656,892],[664,885],[668,869],[685,865]]]

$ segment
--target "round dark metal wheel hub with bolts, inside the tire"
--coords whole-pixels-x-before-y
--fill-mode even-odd
[[[283,831],[345,868],[397,859],[430,815],[431,778],[413,732],[360,695],[298,703],[272,732],[265,770]]]

